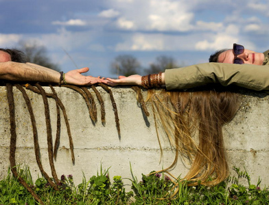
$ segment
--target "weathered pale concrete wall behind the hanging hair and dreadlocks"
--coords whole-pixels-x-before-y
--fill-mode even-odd
[[[51,92],[49,87],[44,88],[47,92]],[[83,173],[86,179],[89,179],[100,170],[102,165],[103,169],[109,168],[110,176],[119,175],[124,178],[131,178],[131,164],[134,175],[140,179],[141,173],[148,174],[152,170],[160,170],[170,165],[174,160],[174,152],[165,136],[160,133],[164,152],[163,160],[159,163],[160,149],[156,139],[153,115],[151,113],[150,117],[145,118],[141,108],[137,105],[135,92],[130,87],[111,89],[119,113],[121,128],[121,139],[119,140],[110,97],[102,87],[97,88],[105,102],[105,126],[102,125],[100,106],[92,90],[90,92],[93,94],[97,105],[98,121],[95,125],[89,118],[89,111],[80,94],[66,87],[56,87],[58,97],[67,110],[75,152],[75,165],[73,165],[67,129],[61,112],[60,147],[55,161],[58,177],[61,174],[73,174],[76,183],[82,182]],[[40,176],[40,172],[34,155],[30,115],[21,92],[16,88],[13,90],[17,134],[16,163],[29,165],[32,176],[36,178],[38,174]],[[27,94],[31,99],[36,117],[43,167],[51,176],[47,154],[43,100],[40,95],[29,90],[27,90]],[[9,166],[10,150],[10,116],[5,87],[0,87],[0,100],[0,178],[3,178],[7,174]],[[53,137],[55,138],[56,103],[51,98],[49,98],[49,110]],[[258,177],[261,176],[263,184],[269,184],[268,110],[268,96],[242,92],[242,107],[233,121],[224,126],[224,141],[230,169],[234,165],[242,169],[246,167],[253,178],[253,183],[257,182]],[[178,161],[173,174],[184,176],[187,173],[187,167],[187,164]]]

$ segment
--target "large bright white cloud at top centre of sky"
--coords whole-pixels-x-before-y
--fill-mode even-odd
[[[137,31],[190,31],[194,29],[194,13],[187,0],[136,0],[120,3],[110,1],[110,8],[118,11],[115,20],[120,29]],[[136,8],[136,9],[134,9]],[[111,9],[110,9],[111,10]],[[110,27],[111,22],[107,24]]]

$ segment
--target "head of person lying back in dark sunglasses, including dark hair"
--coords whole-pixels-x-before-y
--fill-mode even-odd
[[[253,64],[262,65],[264,63],[264,53],[257,53],[244,49],[244,46],[234,44],[233,49],[223,49],[216,51],[209,57],[209,62],[224,64]]]

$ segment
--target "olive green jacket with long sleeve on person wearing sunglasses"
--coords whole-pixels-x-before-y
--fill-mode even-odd
[[[184,90],[191,87],[220,83],[237,85],[251,90],[269,90],[269,50],[264,52],[263,66],[252,64],[196,64],[165,70],[167,90]]]

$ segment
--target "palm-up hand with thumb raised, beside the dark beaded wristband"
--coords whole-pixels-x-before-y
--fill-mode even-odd
[[[65,74],[65,81],[67,84],[73,85],[93,85],[95,83],[106,83],[104,78],[84,76],[82,73],[87,72],[89,68],[80,68],[76,70],[70,70]]]

